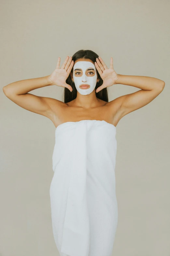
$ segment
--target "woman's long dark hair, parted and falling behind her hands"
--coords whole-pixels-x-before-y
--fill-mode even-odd
[[[93,62],[96,61],[96,58],[98,58],[99,56],[91,51],[91,50],[79,50],[78,52],[76,52],[73,56],[72,56],[72,60],[74,60],[74,62],[78,59],[90,59],[92,60]],[[96,69],[97,71],[97,69]],[[77,89],[76,89],[76,86],[75,84],[73,83],[72,79],[71,79],[71,73],[73,73],[73,68],[69,74],[69,76],[67,77],[66,79],[66,83],[71,85],[73,91],[70,92],[70,90],[68,88],[64,88],[64,103],[67,103],[67,102],[70,102],[71,100],[74,100],[76,97],[77,97]],[[96,87],[95,87],[95,90],[101,86],[103,84],[103,80],[102,78],[100,77],[99,75],[99,72],[97,71],[97,78],[99,78],[99,82],[96,83]],[[104,101],[107,101],[108,102],[108,94],[107,94],[107,88],[104,88],[102,89],[101,91],[99,91],[98,93],[96,93],[96,97],[101,99],[101,100],[104,100]]]

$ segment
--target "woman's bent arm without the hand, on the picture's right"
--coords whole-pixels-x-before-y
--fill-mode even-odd
[[[163,91],[165,86],[165,82],[158,78],[126,75],[118,75],[116,84],[130,85],[141,89],[115,99],[119,102],[119,111],[122,116],[147,105]]]

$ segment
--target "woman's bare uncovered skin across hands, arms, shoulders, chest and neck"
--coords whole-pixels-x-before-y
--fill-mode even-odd
[[[72,91],[71,86],[66,84],[65,81],[77,61],[92,62],[89,59],[78,59],[74,62],[71,56],[67,56],[60,68],[59,57],[57,66],[51,75],[10,83],[3,87],[3,92],[7,98],[20,107],[48,117],[55,127],[65,122],[77,122],[84,119],[105,120],[116,127],[123,116],[147,105],[163,91],[165,86],[165,82],[158,78],[117,74],[113,68],[112,57],[110,58],[110,68],[99,57],[95,63],[92,62],[103,79],[102,86],[97,88],[96,92],[114,84],[134,86],[140,90],[122,95],[110,102],[98,99],[95,95],[95,89],[88,95],[77,92],[77,98],[68,103],[29,93],[37,88],[50,85],[66,87]],[[91,73],[88,74],[88,76],[91,75]],[[81,76],[81,74],[77,76]],[[71,77],[74,81],[73,74],[71,74]],[[97,81],[99,81],[98,78]]]

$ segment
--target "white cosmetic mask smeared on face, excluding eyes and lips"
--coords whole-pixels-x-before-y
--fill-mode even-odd
[[[76,68],[79,68],[81,70],[75,71]],[[87,74],[89,72],[93,72],[93,73],[95,73],[93,76],[86,75],[86,70],[89,68],[93,68],[94,70],[88,70]],[[75,73],[77,73],[77,72],[80,72],[81,76],[79,74],[79,76],[76,77]],[[80,94],[82,94],[82,95],[90,94],[94,90],[96,83],[97,83],[96,67],[90,61],[78,61],[78,62],[76,62],[76,64],[73,67],[73,78],[74,78],[76,89]],[[81,87],[79,87],[81,84],[88,84],[88,85],[90,85],[90,88],[81,89]]]

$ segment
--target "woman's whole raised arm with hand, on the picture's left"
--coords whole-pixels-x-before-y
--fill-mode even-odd
[[[49,97],[36,96],[29,92],[49,85],[58,85],[72,90],[71,86],[65,82],[73,66],[73,61],[71,61],[71,59],[71,57],[69,58],[69,56],[67,56],[60,68],[59,57],[56,69],[50,76],[25,79],[10,83],[3,87],[4,94],[20,107],[47,116],[51,119],[56,107],[65,103]]]

